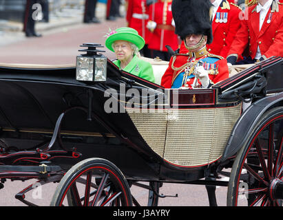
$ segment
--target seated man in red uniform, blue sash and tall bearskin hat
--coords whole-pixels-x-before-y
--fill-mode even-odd
[[[163,87],[208,88],[229,77],[226,59],[209,54],[206,48],[207,43],[211,43],[213,39],[210,7],[211,3],[206,0],[173,1],[176,34],[184,41],[187,53],[171,57],[161,80]],[[194,11],[196,8],[198,10]]]

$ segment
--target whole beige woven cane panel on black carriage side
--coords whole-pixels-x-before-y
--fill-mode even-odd
[[[174,109],[150,113],[127,109],[127,112],[140,135],[160,157],[180,166],[201,166],[222,155],[240,109],[239,104],[219,109]]]

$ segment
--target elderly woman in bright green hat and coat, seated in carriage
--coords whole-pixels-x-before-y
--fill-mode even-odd
[[[118,28],[105,41],[105,46],[116,54],[117,60],[113,63],[119,69],[154,83],[151,64],[136,55],[144,45],[145,40],[133,28]]]

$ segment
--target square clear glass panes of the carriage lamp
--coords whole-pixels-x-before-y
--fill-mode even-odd
[[[106,57],[76,57],[76,80],[102,82],[106,80]]]

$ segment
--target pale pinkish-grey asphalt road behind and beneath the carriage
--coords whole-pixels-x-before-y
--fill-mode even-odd
[[[41,38],[26,39],[21,32],[6,34],[8,42],[0,45],[0,63],[30,63],[30,64],[75,64],[76,56],[81,54],[82,43],[100,43],[104,45],[105,34],[109,30],[115,30],[125,25],[125,19],[117,21],[103,21],[101,24],[78,24],[57,30],[42,32]],[[1,36],[0,36],[1,38]],[[2,39],[3,41],[3,39]],[[114,54],[105,48],[105,56],[110,59]],[[6,181],[5,188],[0,190],[0,206],[25,206],[14,198],[17,192],[34,184],[30,181]],[[34,192],[28,192],[27,199],[39,206],[49,206],[56,184],[48,184],[38,188]],[[137,197],[147,197],[145,190],[134,188]],[[166,197],[159,199],[159,206],[209,206],[205,186],[185,184],[164,184],[160,188],[164,195],[176,195],[178,197]],[[227,188],[220,187],[216,190],[219,206],[226,206]],[[146,199],[144,199],[145,201]]]

